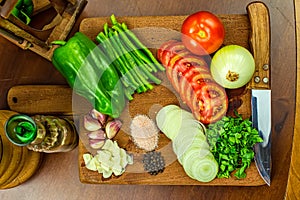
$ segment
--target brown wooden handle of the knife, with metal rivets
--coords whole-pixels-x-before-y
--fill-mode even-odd
[[[251,24],[250,48],[255,59],[255,72],[251,88],[271,88],[270,77],[270,18],[264,3],[254,2],[247,6]]]

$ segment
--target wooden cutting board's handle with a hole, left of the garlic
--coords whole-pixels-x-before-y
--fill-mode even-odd
[[[7,94],[10,110],[31,115],[80,113],[80,107],[72,104],[72,100],[78,105],[88,104],[67,85],[20,85],[10,88]]]

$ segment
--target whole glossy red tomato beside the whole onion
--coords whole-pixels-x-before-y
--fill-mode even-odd
[[[208,11],[188,16],[181,27],[182,42],[197,55],[207,55],[221,47],[225,29],[220,19]]]

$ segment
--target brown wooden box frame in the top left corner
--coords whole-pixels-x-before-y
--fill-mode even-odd
[[[36,2],[34,2],[36,3]],[[56,11],[56,17],[53,17],[49,22],[46,20],[41,27],[36,27],[33,21],[39,18],[42,21],[45,14],[37,16],[35,10],[31,16],[31,23],[24,24],[12,15],[8,15],[8,19],[0,18],[0,27],[3,29],[0,35],[10,40],[15,45],[23,50],[31,50],[45,59],[51,60],[55,48],[49,48],[54,40],[64,40],[75,24],[75,20],[86,5],[85,0],[77,0],[76,3],[68,3],[67,1],[52,1],[52,6],[49,7],[49,1],[40,1],[37,3],[36,9],[47,10],[53,7]],[[5,3],[9,4],[9,3]],[[35,4],[34,4],[35,6]],[[40,8],[44,6],[45,8]],[[11,8],[12,9],[12,8]],[[41,13],[41,12],[40,12]],[[4,33],[4,30],[7,33]]]

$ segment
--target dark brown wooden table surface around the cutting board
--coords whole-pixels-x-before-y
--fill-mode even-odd
[[[217,14],[245,14],[246,6],[250,2],[249,0],[89,0],[72,32],[77,31],[80,20],[87,17],[110,16],[112,13],[117,16],[187,15],[198,10],[210,10]],[[295,185],[291,184],[291,180],[294,180],[293,183],[299,183],[299,176],[297,177],[299,165],[294,166],[293,173],[289,177],[297,85],[295,2],[292,0],[263,2],[269,7],[271,19],[273,169],[270,187],[82,184],[78,176],[78,149],[75,149],[68,153],[47,154],[39,171],[29,181],[16,188],[0,191],[0,199],[284,199],[286,196],[287,199],[300,198]],[[0,38],[0,55],[2,94],[0,109],[8,109],[6,94],[12,86],[66,84],[50,62],[35,53],[19,49],[3,38]]]

